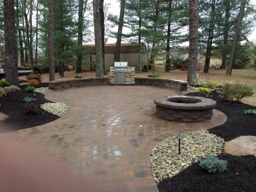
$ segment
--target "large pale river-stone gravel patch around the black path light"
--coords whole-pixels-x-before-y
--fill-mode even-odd
[[[183,136],[181,155],[178,155],[178,139],[175,136],[163,140],[152,150],[151,172],[157,183],[177,175],[207,154],[217,156],[223,152],[224,139],[208,131],[187,132]]]

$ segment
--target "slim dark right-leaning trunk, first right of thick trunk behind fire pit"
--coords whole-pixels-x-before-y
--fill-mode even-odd
[[[210,14],[211,14],[210,15],[210,25],[209,25],[209,32],[208,32],[204,72],[209,71],[210,60],[211,60],[212,39],[213,39],[213,30],[214,30],[214,24],[215,24],[215,19],[214,19],[215,18],[215,0],[212,0]]]

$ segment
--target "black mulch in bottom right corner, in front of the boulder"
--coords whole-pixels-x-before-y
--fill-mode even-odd
[[[159,192],[256,192],[254,156],[219,155],[228,161],[224,173],[209,174],[195,163],[158,184]]]

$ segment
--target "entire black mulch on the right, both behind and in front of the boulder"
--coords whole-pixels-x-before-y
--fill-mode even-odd
[[[198,93],[188,95],[202,96]],[[244,110],[256,107],[233,103],[218,95],[213,93],[209,98],[217,101],[216,109],[225,113],[228,119],[223,125],[209,129],[209,132],[225,141],[242,135],[256,135],[256,116],[244,114]],[[196,163],[171,179],[160,182],[159,192],[256,192],[256,157],[221,154],[219,158],[228,161],[228,171],[208,174]]]

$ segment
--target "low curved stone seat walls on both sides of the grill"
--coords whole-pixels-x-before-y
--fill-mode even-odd
[[[48,82],[49,88],[52,90],[107,84],[110,84],[109,77],[80,78]],[[175,79],[135,77],[135,84],[167,87],[177,91],[187,90],[187,82]]]

